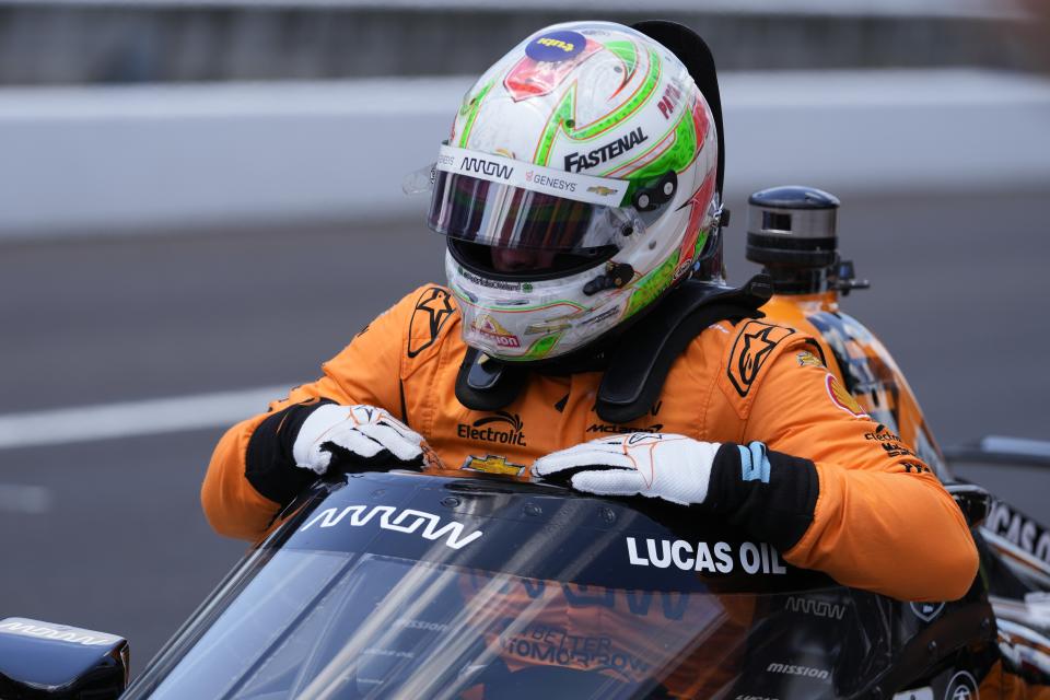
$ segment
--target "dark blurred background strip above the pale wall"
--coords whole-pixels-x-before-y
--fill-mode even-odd
[[[682,22],[723,70],[1032,63],[1008,2],[978,0],[0,0],[0,84],[469,74],[573,19]],[[1045,37],[1043,37],[1045,39]]]

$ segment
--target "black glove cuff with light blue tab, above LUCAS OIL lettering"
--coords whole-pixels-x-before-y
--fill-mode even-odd
[[[809,459],[772,452],[761,443],[724,443],[711,467],[705,506],[724,513],[779,551],[797,544],[813,523],[820,482]],[[747,464],[744,464],[744,463]]]

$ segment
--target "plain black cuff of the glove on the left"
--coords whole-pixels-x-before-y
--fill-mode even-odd
[[[292,446],[303,421],[322,406],[332,402],[322,399],[295,404],[259,423],[248,439],[244,469],[245,478],[256,491],[284,506],[317,479],[317,475],[310,469],[295,466]]]

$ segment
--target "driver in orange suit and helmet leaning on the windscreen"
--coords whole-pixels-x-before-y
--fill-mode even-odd
[[[959,509],[885,450],[809,339],[739,304],[681,313],[704,308],[696,280],[742,299],[721,280],[701,46],[668,23],[560,24],[486,71],[433,168],[447,285],[226,432],[202,489],[212,526],[257,537],[329,468],[530,469],[722,515],[848,586],[962,596],[977,552]]]

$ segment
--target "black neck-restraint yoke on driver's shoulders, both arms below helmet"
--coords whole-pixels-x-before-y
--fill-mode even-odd
[[[672,363],[693,338],[720,320],[760,318],[763,314],[758,310],[771,294],[772,284],[765,275],[739,289],[687,280],[670,291],[654,313],[607,350],[595,406],[598,417],[611,423],[641,418],[660,398]],[[499,410],[517,398],[534,368],[493,360],[468,348],[456,377],[456,398],[472,410]]]

